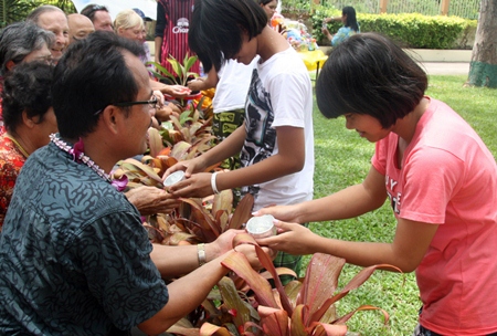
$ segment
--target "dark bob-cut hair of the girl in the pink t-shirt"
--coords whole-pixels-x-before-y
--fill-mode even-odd
[[[388,128],[414,109],[426,87],[425,72],[393,41],[361,33],[332,49],[316,99],[327,118],[367,114]]]

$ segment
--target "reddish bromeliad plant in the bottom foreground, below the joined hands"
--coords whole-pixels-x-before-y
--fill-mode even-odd
[[[400,272],[398,267],[385,264],[366,267],[336,293],[345,260],[316,253],[309,262],[305,279],[302,282],[293,281],[283,287],[271,258],[260,246],[255,248],[263,266],[273,275],[276,288],[272,288],[267,280],[250,266],[244,255],[229,255],[222,262],[223,265],[242,277],[254,296],[234,296],[229,281],[221,282],[219,287],[224,311],[237,318],[233,318],[231,325],[204,323],[200,328],[201,335],[343,336],[347,334],[345,323],[356,312],[371,309],[382,312],[384,323],[388,323],[388,313],[370,305],[362,305],[339,317],[335,303],[362,285],[376,270],[393,269]],[[256,307],[257,315],[244,307],[246,302]]]

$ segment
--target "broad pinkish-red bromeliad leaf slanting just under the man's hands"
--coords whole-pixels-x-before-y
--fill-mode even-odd
[[[273,296],[269,283],[252,269],[244,254],[233,252],[221,263],[225,267],[235,272],[248,284],[248,286],[254,291],[258,304],[273,308],[279,308]]]

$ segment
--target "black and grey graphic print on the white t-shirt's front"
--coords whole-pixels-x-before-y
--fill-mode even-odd
[[[257,70],[252,73],[248,97],[245,103],[245,141],[240,160],[242,167],[252,166],[273,155],[276,145],[276,129],[271,125],[274,120],[271,94],[266,92],[258,77]],[[242,188],[242,192],[250,192],[257,198],[260,187]]]

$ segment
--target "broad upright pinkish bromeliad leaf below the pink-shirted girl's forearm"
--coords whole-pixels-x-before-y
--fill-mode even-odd
[[[309,307],[308,317],[313,316],[325,301],[335,294],[345,263],[345,259],[330,254],[315,253],[313,255],[296,303]],[[308,325],[313,321],[305,321],[305,324]]]

